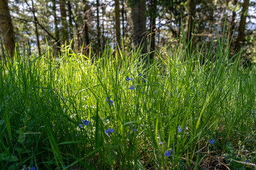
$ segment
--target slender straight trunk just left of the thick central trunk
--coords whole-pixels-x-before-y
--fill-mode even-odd
[[[115,28],[117,45],[121,46],[121,33],[120,33],[120,10],[119,0],[114,0],[114,16],[115,16]]]

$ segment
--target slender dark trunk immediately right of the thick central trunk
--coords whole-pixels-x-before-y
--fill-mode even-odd
[[[151,0],[150,10],[150,26],[151,26],[151,44],[150,44],[150,59],[154,59],[155,40],[156,40],[156,0]]]

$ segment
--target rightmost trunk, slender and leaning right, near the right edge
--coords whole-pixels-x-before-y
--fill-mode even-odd
[[[245,24],[246,24],[246,17],[247,17],[247,11],[249,7],[249,0],[244,0],[242,4],[242,13],[241,13],[241,19],[240,19],[240,25],[238,28],[238,38],[236,40],[235,44],[235,52],[239,52],[242,46],[242,42],[245,39]]]

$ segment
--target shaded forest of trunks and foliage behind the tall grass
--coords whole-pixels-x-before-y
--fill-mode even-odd
[[[183,42],[183,27],[193,48],[216,42],[219,34],[230,43],[230,56],[241,47],[246,61],[255,56],[253,0],[1,0],[0,22],[1,38],[9,30],[3,45],[11,53],[15,42],[29,54],[41,55],[46,40],[55,52],[73,40],[72,47],[87,52],[91,45],[96,54],[106,44],[114,48],[125,40],[132,47],[144,37],[144,52],[148,52]]]

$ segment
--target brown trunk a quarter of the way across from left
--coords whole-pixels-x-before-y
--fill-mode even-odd
[[[68,41],[68,23],[67,23],[67,13],[65,8],[65,0],[60,0],[60,16],[61,16],[61,35],[63,44],[65,44],[65,41]]]

